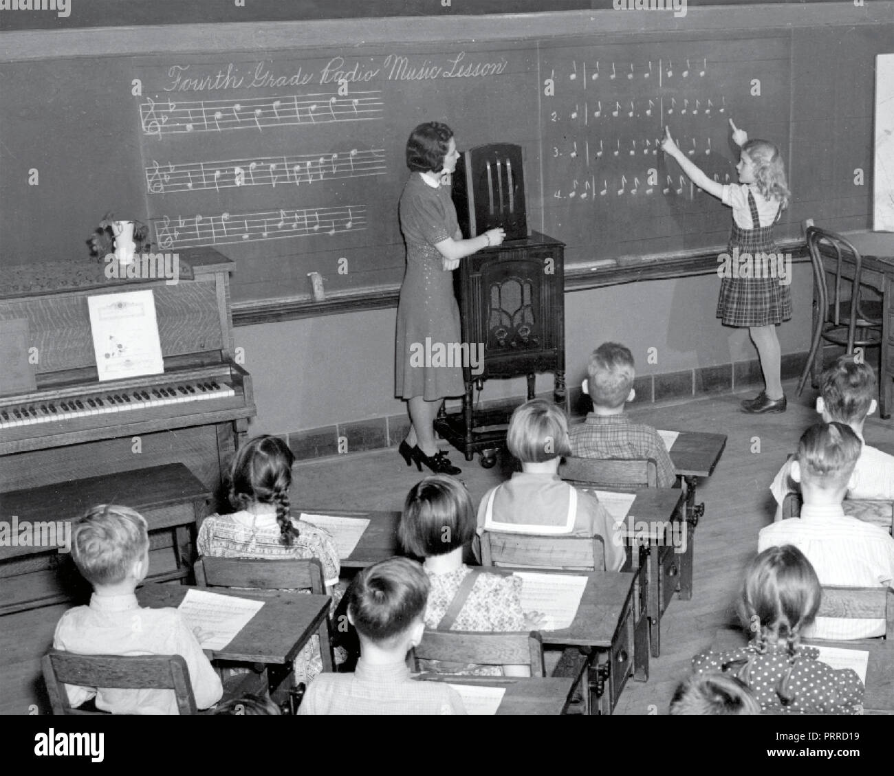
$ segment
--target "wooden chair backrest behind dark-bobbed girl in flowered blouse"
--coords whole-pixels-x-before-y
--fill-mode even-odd
[[[482,633],[468,630],[426,628],[413,650],[416,670],[420,660],[439,660],[479,665],[527,665],[532,677],[544,677],[544,643],[531,633]]]

